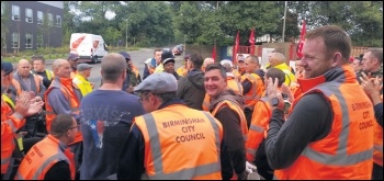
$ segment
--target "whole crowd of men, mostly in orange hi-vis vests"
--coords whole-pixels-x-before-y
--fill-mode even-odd
[[[214,60],[155,49],[1,63],[2,180],[383,180],[383,49],[350,57],[338,26],[307,32],[295,70],[272,52]],[[32,68],[33,67],[33,68]],[[257,174],[255,174],[257,173]],[[251,178],[250,176],[257,176]]]

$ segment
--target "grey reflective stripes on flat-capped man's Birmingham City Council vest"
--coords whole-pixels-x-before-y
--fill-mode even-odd
[[[215,144],[217,150],[221,149],[221,142],[219,142],[219,128],[215,122],[215,120],[210,115],[210,113],[204,112],[205,116],[208,118],[210,123],[212,124],[214,128],[214,134],[215,134]],[[150,137],[150,150],[151,150],[151,157],[155,159],[154,160],[154,168],[155,168],[155,174],[154,176],[148,176],[149,179],[154,180],[177,180],[177,179],[182,179],[182,178],[195,178],[199,176],[205,176],[205,174],[211,174],[215,173],[222,170],[221,168],[221,162],[219,160],[217,162],[208,163],[208,165],[203,165],[203,166],[197,166],[189,169],[183,169],[174,172],[169,172],[165,173],[163,172],[163,166],[162,166],[162,152],[161,152],[161,144],[158,135],[158,129],[155,123],[155,118],[153,114],[145,114],[143,115],[143,118],[145,120],[145,124],[148,129],[148,134]],[[219,159],[219,158],[218,158]]]

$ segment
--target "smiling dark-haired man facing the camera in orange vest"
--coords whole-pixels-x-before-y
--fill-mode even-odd
[[[246,179],[246,145],[248,126],[244,114],[244,99],[227,89],[226,70],[219,64],[208,65],[204,75],[206,94],[211,98],[210,112],[222,124],[235,174],[231,179]]]

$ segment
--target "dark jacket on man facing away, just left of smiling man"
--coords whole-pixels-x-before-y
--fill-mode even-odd
[[[203,110],[202,103],[205,97],[204,72],[193,69],[187,77],[180,77],[177,95],[184,100],[185,104],[195,110]]]

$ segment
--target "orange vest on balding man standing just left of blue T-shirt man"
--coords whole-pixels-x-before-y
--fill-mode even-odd
[[[65,84],[66,86],[65,86]],[[80,101],[79,98],[77,98],[74,88],[72,88],[72,79],[64,79],[64,78],[58,78],[55,77],[54,80],[52,81],[49,88],[45,91],[44,93],[44,102],[45,102],[45,109],[46,109],[46,129],[48,133],[50,132],[50,124],[56,117],[56,113],[54,112],[53,105],[50,105],[48,101],[48,94],[49,92],[54,89],[58,88],[63,92],[64,97],[67,99],[69,106],[71,109],[71,113],[78,114],[79,113],[79,106],[80,106]],[[75,137],[75,140],[71,144],[76,144],[82,142],[82,135],[81,132],[77,132],[77,135]]]

